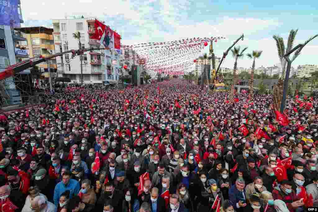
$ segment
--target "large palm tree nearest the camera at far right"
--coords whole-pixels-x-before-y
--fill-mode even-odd
[[[293,49],[294,40],[295,40],[297,32],[298,32],[298,29],[291,30],[289,32],[286,49],[285,49],[284,39],[280,37],[279,35],[273,36],[274,40],[276,41],[278,57],[280,59],[281,69],[282,69],[282,76],[278,80],[277,84],[273,87],[273,107],[275,108],[275,110],[279,110],[281,101],[283,98],[284,79],[285,79],[285,72],[286,72],[286,65],[287,65],[287,60],[285,59],[284,55],[286,54],[286,52],[289,52],[290,50]],[[290,61],[293,62],[300,55],[302,48],[316,37],[318,37],[318,34],[309,38],[307,41],[305,41],[305,43],[303,43],[302,46],[295,51]],[[296,90],[295,93],[296,92],[298,91]]]

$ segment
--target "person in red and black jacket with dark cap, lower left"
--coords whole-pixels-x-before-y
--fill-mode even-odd
[[[19,174],[19,172],[13,168],[8,170],[8,183],[11,190],[21,191],[23,194],[28,194],[30,187],[30,180],[27,174]]]

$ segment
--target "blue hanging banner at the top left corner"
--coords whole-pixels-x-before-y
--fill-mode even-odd
[[[21,27],[18,2],[18,0],[0,1],[0,25],[8,25],[12,28]]]

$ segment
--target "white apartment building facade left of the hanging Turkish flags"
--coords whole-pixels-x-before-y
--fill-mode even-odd
[[[95,18],[70,18],[54,19],[53,38],[55,52],[79,49],[78,39],[73,38],[73,33],[80,32],[81,48],[101,48],[100,41],[90,39],[95,33]],[[69,77],[71,82],[81,83],[80,59],[82,59],[83,83],[101,84],[105,80],[105,50],[87,51],[82,56],[72,58],[72,53],[65,54],[63,57],[57,57],[57,69],[59,77]]]

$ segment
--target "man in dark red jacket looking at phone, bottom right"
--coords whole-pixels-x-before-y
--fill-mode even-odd
[[[304,205],[302,200],[297,200],[297,195],[292,189],[293,183],[288,180],[283,180],[280,186],[273,189],[273,199],[282,200],[290,212],[295,212],[297,208]]]

